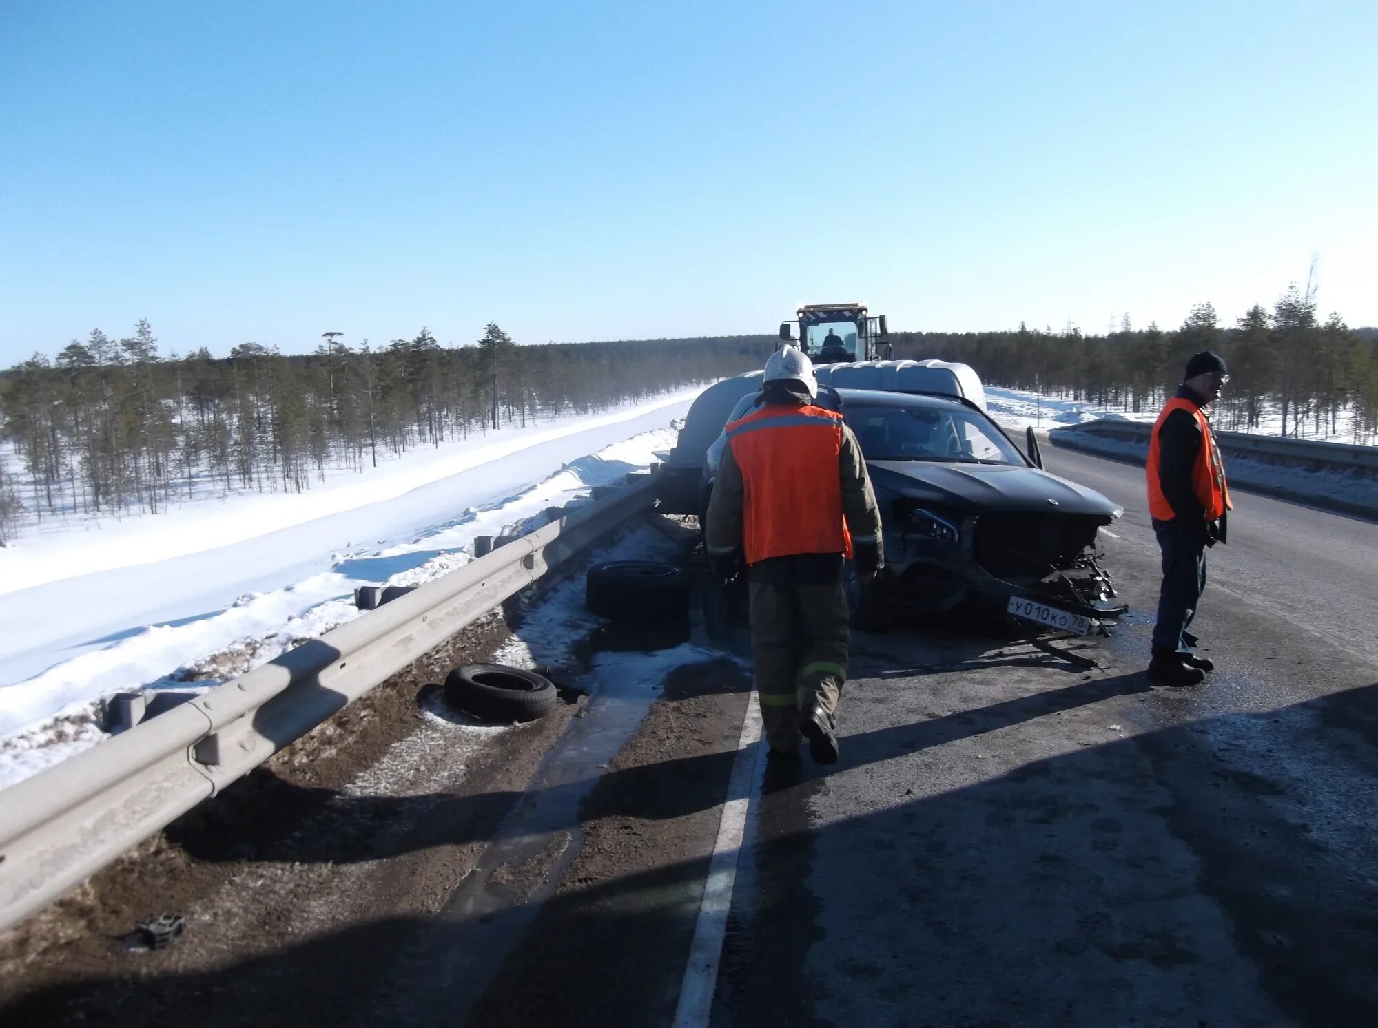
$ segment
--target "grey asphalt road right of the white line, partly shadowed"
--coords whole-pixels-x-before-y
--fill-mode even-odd
[[[1090,675],[861,639],[842,762],[758,802],[714,1024],[1378,1022],[1378,526],[1239,496],[1218,670],[1155,689],[1142,470],[1046,459],[1126,507],[1123,631]]]

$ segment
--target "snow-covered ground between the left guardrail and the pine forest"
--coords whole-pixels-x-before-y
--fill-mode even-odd
[[[357,616],[357,586],[442,575],[474,536],[646,467],[697,393],[0,551],[0,579],[23,583],[0,595],[0,788],[99,741],[105,696],[227,681]]]

